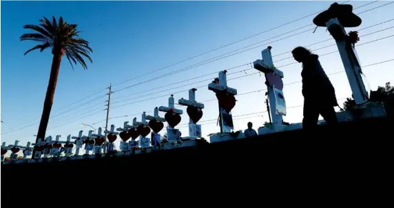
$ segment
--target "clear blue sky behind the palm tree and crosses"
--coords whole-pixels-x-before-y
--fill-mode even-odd
[[[1,1],[1,120],[4,122],[1,124],[1,132],[3,133],[1,141],[10,144],[17,139],[25,144],[27,141],[34,141],[33,135],[37,134],[45,91],[48,86],[52,54],[50,50],[47,50],[42,53],[34,51],[23,56],[25,50],[32,48],[34,43],[20,42],[19,37],[21,34],[28,32],[28,30],[22,28],[23,25],[39,23],[39,19],[43,16],[62,16],[66,21],[77,23],[79,30],[83,31],[81,37],[90,41],[94,50],[92,54],[94,62],[88,65],[88,70],[84,71],[81,66],[72,70],[65,59],[61,63],[52,117],[56,114],[61,115],[50,119],[47,136],[59,134],[65,140],[68,134],[76,135],[81,129],[87,134],[90,128],[83,127],[81,123],[88,123],[94,127],[105,126],[105,121],[103,121],[105,120],[104,105],[105,94],[107,93],[105,88],[110,83],[114,84],[113,91],[115,92],[112,94],[114,99],[112,100],[110,117],[129,115],[110,120],[110,124],[119,127],[123,125],[124,121],[132,121],[134,116],[140,121],[140,114],[143,111],[151,112],[156,106],[167,106],[168,96],[163,95],[184,90],[184,92],[174,94],[174,98],[176,101],[182,97],[187,98],[187,90],[192,87],[207,85],[210,81],[205,80],[215,77],[211,75],[193,79],[197,76],[238,65],[244,66],[229,70],[231,73],[239,72],[229,75],[228,79],[256,72],[256,70],[247,70],[250,68],[247,63],[260,59],[261,50],[268,45],[273,47],[273,55],[287,52],[273,58],[277,67],[293,63],[293,59],[282,61],[280,59],[291,56],[289,51],[298,45],[306,46],[329,39],[331,37],[329,32],[326,32],[325,28],[318,28],[315,33],[310,31],[275,43],[268,42],[309,28],[313,29],[313,26],[309,26],[286,34],[291,30],[310,24],[312,17],[240,41],[220,50],[209,52],[172,67],[158,70],[141,78],[127,81],[160,67],[183,61],[293,19],[318,12],[328,8],[331,3],[331,1]],[[369,3],[369,1],[351,2],[354,7],[366,3]],[[355,10],[355,13],[375,8],[384,3],[388,3],[388,1],[371,3]],[[394,3],[360,14],[363,19],[360,28],[393,19],[393,9]],[[394,21],[377,25],[360,31],[360,36],[393,25]],[[394,30],[391,29],[362,37],[360,44],[387,37],[393,32]],[[275,38],[280,34],[283,35]],[[253,50],[120,90],[123,87],[147,81],[156,76],[174,72],[189,65],[271,38],[273,38],[271,41],[257,44],[262,46]],[[315,50],[316,54],[325,54],[337,50],[336,46],[322,50],[316,49],[333,43],[335,42],[330,40],[312,45],[309,48]],[[253,45],[251,48],[255,46]],[[360,45],[356,49],[361,64],[369,65],[393,59],[393,48],[394,39],[391,37],[375,43]],[[327,74],[343,71],[338,53],[322,56],[320,61]],[[371,89],[374,90],[378,85],[384,85],[386,81],[393,81],[393,63],[383,63],[365,68],[364,72]],[[284,72],[284,83],[300,81],[300,67],[298,63],[280,67],[280,70]],[[241,70],[247,70],[247,74],[240,72]],[[191,81],[161,87],[167,83],[172,84],[185,79],[191,79]],[[345,73],[334,74],[330,76],[330,79],[338,98],[351,96]],[[234,79],[229,81],[228,85],[238,89],[238,94],[242,94],[265,89],[264,82],[263,77],[257,74]],[[196,84],[187,85],[189,83]],[[127,96],[155,87],[159,88]],[[168,90],[171,88],[176,89]],[[120,91],[116,92],[117,90]],[[285,85],[283,91],[289,107],[288,115],[284,117],[284,121],[300,122],[302,120],[302,107],[294,107],[302,105],[303,102],[300,83]],[[90,96],[96,92],[98,94]],[[152,94],[155,92],[157,94]],[[238,103],[233,110],[233,115],[237,116],[234,117],[236,119],[234,120],[236,129],[245,129],[248,121],[253,122],[255,128],[261,126],[264,121],[268,121],[267,113],[252,114],[253,112],[265,111],[264,93],[256,92],[237,97]],[[143,97],[144,94],[145,97]],[[86,96],[90,97],[72,105],[72,103]],[[197,101],[207,101],[214,98],[215,94],[207,90],[207,87],[200,87],[196,92]],[[92,101],[94,99],[96,100]],[[125,101],[126,99],[129,101]],[[92,102],[87,103],[88,101]],[[343,103],[343,101],[340,100],[339,103]],[[84,103],[87,104],[81,105]],[[132,104],[126,105],[127,103]],[[180,107],[180,109],[185,110],[185,107]],[[204,116],[201,121],[216,119],[218,116],[216,101],[205,103],[203,112]],[[80,116],[78,116],[79,114]],[[241,114],[249,115],[238,116]],[[164,116],[163,113],[160,113],[160,115]],[[77,117],[70,120],[74,116]],[[251,116],[254,117],[251,118]],[[181,124],[189,121],[186,112],[182,118]],[[203,125],[204,135],[219,131],[219,127],[212,121],[203,123],[208,123]],[[30,126],[25,127],[26,125]],[[19,129],[21,127],[25,128]],[[187,135],[187,125],[180,125],[180,131],[183,132],[183,135]]]

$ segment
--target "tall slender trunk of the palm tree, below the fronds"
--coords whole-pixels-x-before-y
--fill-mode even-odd
[[[39,125],[39,132],[37,133],[36,143],[38,143],[39,138],[41,141],[45,139],[45,132],[48,127],[48,122],[50,118],[50,112],[52,110],[52,103],[54,98],[54,90],[56,89],[57,76],[59,75],[59,68],[61,63],[61,50],[53,51],[52,67],[50,70],[50,80],[48,83],[47,94],[45,95],[43,114],[41,115],[41,121]],[[34,156],[35,151],[33,151]]]

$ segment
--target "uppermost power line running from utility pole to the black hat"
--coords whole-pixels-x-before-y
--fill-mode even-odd
[[[349,1],[345,1],[345,2],[343,2],[343,3],[346,3],[346,2],[349,2]],[[343,3],[341,3],[341,4],[343,4]],[[373,2],[373,3],[374,3],[374,2]],[[368,4],[370,4],[370,3],[368,3]],[[365,5],[365,6],[366,6],[366,5]],[[129,80],[127,80],[127,81],[123,81],[123,82],[121,82],[121,83],[116,83],[116,84],[114,84],[114,85],[120,85],[120,84],[122,84],[122,83],[126,83],[126,82],[132,81],[132,80],[134,80],[134,79],[141,78],[142,76],[146,76],[146,75],[148,75],[148,74],[152,74],[152,73],[154,73],[154,72],[158,72],[158,71],[160,71],[160,70],[164,70],[164,69],[166,69],[167,67],[172,67],[172,66],[177,65],[177,64],[179,64],[179,63],[183,63],[183,62],[185,62],[185,61],[189,61],[189,60],[191,60],[191,59],[194,59],[194,58],[196,58],[196,57],[198,57],[198,56],[203,56],[203,55],[208,54],[208,53],[210,53],[210,52],[214,52],[214,51],[216,51],[216,50],[220,50],[220,49],[222,49],[222,48],[225,48],[225,47],[227,47],[227,46],[229,46],[229,45],[234,45],[235,43],[239,43],[239,42],[241,42],[241,41],[245,41],[245,40],[247,40],[247,39],[251,39],[252,37],[256,37],[256,36],[258,36],[258,35],[260,35],[260,34],[264,34],[264,33],[269,32],[269,31],[271,31],[271,30],[275,30],[275,29],[277,29],[277,28],[281,28],[281,27],[283,27],[284,25],[289,25],[289,24],[291,24],[291,23],[295,23],[296,21],[300,21],[301,19],[305,19],[305,18],[307,18],[307,17],[311,17],[312,15],[318,14],[318,13],[320,13],[320,12],[322,12],[322,11],[324,11],[324,10],[320,10],[320,11],[318,11],[318,12],[314,12],[313,14],[309,14],[309,15],[307,15],[307,16],[305,16],[305,17],[301,17],[301,18],[299,18],[299,19],[295,19],[295,20],[293,20],[293,21],[289,21],[289,22],[284,23],[284,24],[282,24],[282,25],[278,25],[278,26],[276,26],[275,28],[271,28],[271,29],[269,29],[269,30],[265,30],[265,31],[263,31],[263,32],[259,32],[258,34],[253,34],[253,35],[251,35],[251,36],[249,36],[249,37],[246,37],[246,38],[240,39],[240,40],[238,40],[238,41],[234,41],[234,42],[228,43],[228,44],[226,44],[226,45],[222,45],[222,46],[220,46],[219,48],[215,48],[215,49],[213,49],[213,50],[209,50],[208,52],[203,52],[203,53],[201,53],[201,54],[198,54],[198,55],[196,55],[196,56],[192,56],[192,57],[190,57],[190,58],[188,58],[188,59],[185,59],[185,60],[183,60],[183,61],[178,61],[178,62],[173,63],[173,64],[171,64],[171,65],[167,65],[167,66],[165,66],[165,67],[161,67],[161,68],[159,68],[159,69],[157,69],[157,70],[154,70],[154,71],[152,71],[152,72],[148,72],[148,73],[143,74],[143,75],[141,75],[141,76],[136,76],[136,77],[134,77],[134,78],[132,78],[132,79],[129,79]]]

